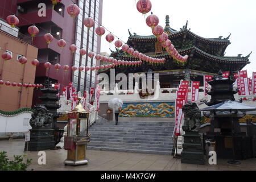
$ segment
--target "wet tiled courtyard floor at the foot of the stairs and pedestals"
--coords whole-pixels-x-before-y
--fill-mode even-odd
[[[256,171],[256,158],[242,160],[241,165],[228,164],[227,160],[217,160],[217,165],[181,164],[180,159],[171,155],[137,154],[128,152],[87,151],[89,163],[82,166],[64,166],[67,151],[46,150],[46,165],[38,164],[38,152],[23,152],[24,140],[0,140],[0,151],[7,151],[10,159],[13,155],[27,154],[32,159],[28,169],[36,170],[86,170],[86,171],[212,171],[212,170],[253,170]]]

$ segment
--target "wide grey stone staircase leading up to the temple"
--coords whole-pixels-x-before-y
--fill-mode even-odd
[[[171,155],[174,122],[135,122],[98,119],[89,128],[88,150]]]

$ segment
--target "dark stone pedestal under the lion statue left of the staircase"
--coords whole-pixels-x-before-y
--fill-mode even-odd
[[[54,149],[55,141],[53,131],[53,129],[31,129],[28,151]],[[27,143],[25,144],[25,151],[26,150]]]

